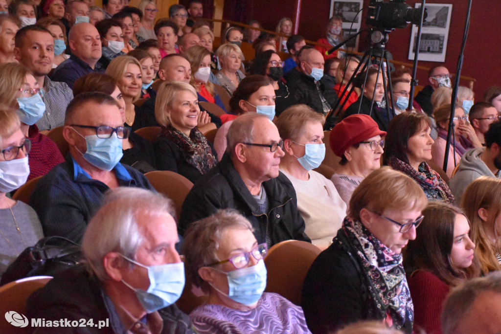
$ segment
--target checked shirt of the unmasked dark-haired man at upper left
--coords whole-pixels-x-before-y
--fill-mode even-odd
[[[66,107],[73,100],[73,91],[64,82],[55,82],[44,78],[44,88],[48,92],[44,95],[45,113],[36,123],[39,130],[50,130],[64,124]]]

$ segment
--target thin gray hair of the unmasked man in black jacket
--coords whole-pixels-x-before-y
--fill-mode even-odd
[[[258,118],[267,117],[258,113],[245,113],[233,120],[226,134],[226,153],[233,156],[237,144],[254,141],[254,122]]]

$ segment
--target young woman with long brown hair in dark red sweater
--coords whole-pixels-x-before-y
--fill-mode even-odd
[[[429,202],[416,239],[403,251],[412,303],[414,330],[441,333],[440,313],[451,287],[480,274],[469,238],[470,224],[461,209]]]

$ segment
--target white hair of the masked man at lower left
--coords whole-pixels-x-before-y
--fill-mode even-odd
[[[137,248],[144,240],[138,221],[165,213],[175,217],[172,201],[161,194],[129,187],[107,191],[82,241],[89,269],[100,280],[109,279],[103,266],[104,256],[118,252],[135,259]]]

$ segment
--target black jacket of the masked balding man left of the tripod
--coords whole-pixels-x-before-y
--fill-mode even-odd
[[[320,91],[329,103],[330,107],[334,107],[338,102],[338,95],[336,94],[336,92],[333,89],[326,89],[322,81],[320,81]],[[320,99],[320,93],[315,84],[315,79],[313,79],[312,77],[301,73],[301,76],[296,83],[294,96],[296,97],[298,103],[306,104],[317,113],[324,113],[322,100]]]

